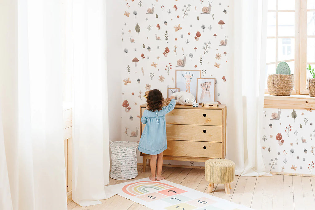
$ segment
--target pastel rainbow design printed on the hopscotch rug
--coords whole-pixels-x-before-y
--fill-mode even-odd
[[[156,192],[158,190],[165,190],[171,187],[173,186],[161,182],[140,181],[125,185],[123,187],[123,192],[130,196],[139,196],[150,192]]]

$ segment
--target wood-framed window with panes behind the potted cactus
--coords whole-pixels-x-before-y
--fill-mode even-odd
[[[285,61],[295,75],[292,94],[308,94],[306,65],[315,64],[315,0],[268,0],[266,48],[266,75]]]

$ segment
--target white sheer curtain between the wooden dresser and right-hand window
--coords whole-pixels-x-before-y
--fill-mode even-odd
[[[232,92],[227,101],[227,155],[240,176],[271,175],[261,154],[261,116],[266,69],[267,1],[239,0],[233,5]]]

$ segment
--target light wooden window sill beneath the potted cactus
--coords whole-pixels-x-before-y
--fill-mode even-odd
[[[264,108],[315,110],[315,97],[309,95],[276,96],[265,94]]]

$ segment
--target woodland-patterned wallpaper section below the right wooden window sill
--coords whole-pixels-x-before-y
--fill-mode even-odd
[[[261,150],[267,169],[315,174],[314,116],[307,110],[264,109]]]

